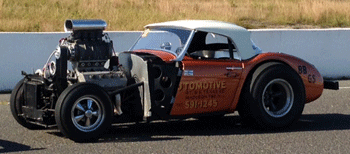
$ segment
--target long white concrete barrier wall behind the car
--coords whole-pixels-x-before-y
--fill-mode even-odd
[[[283,52],[314,64],[327,78],[350,77],[350,29],[250,30],[264,52]],[[117,52],[125,51],[141,32],[107,32]],[[42,68],[61,38],[69,33],[0,33],[0,92],[14,88],[21,71]]]

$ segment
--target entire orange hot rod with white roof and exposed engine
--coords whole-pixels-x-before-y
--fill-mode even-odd
[[[129,51],[116,53],[103,20],[67,20],[43,69],[11,94],[28,128],[53,127],[74,141],[97,139],[112,122],[239,112],[263,129],[289,126],[327,87],[316,68],[283,53],[261,53],[246,29],[226,22],[150,24]],[[50,62],[50,60],[52,60]],[[69,63],[68,63],[69,62]]]

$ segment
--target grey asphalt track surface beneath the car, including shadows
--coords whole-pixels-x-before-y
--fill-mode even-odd
[[[2,103],[0,153],[349,153],[350,81],[340,86],[325,90],[295,125],[281,131],[242,126],[233,114],[216,121],[114,125],[95,143],[75,143],[56,129],[27,130]]]

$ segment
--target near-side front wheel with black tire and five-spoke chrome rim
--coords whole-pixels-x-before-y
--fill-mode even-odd
[[[111,126],[113,106],[98,85],[78,83],[59,96],[55,119],[59,130],[76,142],[97,140]]]

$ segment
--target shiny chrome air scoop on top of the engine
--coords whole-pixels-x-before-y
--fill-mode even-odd
[[[107,23],[104,20],[73,20],[68,19],[64,23],[65,32],[73,32],[76,30],[105,30]]]

